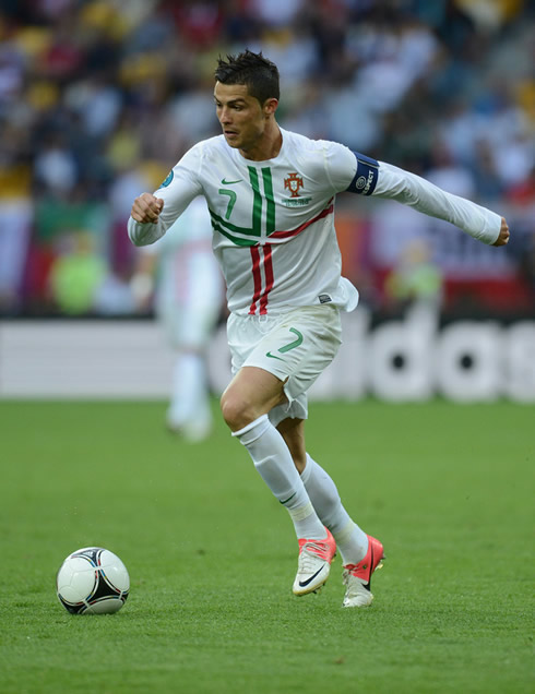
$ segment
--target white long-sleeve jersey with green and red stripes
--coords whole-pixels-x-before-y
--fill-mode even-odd
[[[194,145],[154,193],[164,200],[158,222],[129,219],[132,242],[153,243],[204,195],[229,310],[274,315],[298,306],[357,306],[356,288],[341,276],[334,229],[343,191],[394,199],[486,243],[498,239],[501,218],[485,207],[338,143],[281,132],[281,152],[265,161],[246,159],[223,135]]]

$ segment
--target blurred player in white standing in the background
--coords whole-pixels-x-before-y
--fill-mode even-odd
[[[205,350],[224,301],[204,198],[193,200],[164,238],[142,249],[132,282],[142,306],[154,275],[156,315],[176,355],[167,427],[198,443],[212,430]]]

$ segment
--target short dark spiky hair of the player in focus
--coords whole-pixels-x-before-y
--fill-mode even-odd
[[[274,62],[262,56],[245,50],[238,56],[219,56],[215,79],[222,84],[245,84],[249,94],[262,105],[266,99],[278,99],[278,69]]]

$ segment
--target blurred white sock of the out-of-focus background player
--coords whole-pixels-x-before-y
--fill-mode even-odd
[[[185,352],[178,356],[173,371],[169,419],[183,424],[198,418],[211,420],[204,359]]]

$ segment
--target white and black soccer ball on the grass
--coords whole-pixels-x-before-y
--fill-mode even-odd
[[[121,560],[102,547],[85,547],[64,560],[56,577],[61,605],[72,614],[117,612],[130,590]]]

